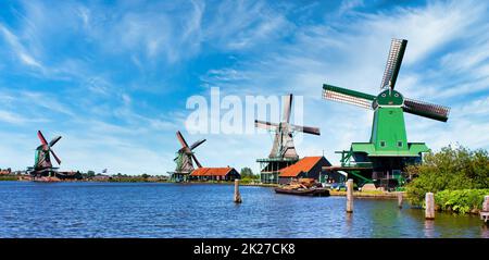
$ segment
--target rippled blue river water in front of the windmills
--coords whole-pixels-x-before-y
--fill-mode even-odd
[[[0,182],[0,237],[489,237],[478,216],[396,200],[277,195],[272,188],[152,183]]]

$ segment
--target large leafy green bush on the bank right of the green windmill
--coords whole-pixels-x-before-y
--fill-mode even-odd
[[[419,206],[426,193],[489,188],[489,154],[482,149],[448,146],[427,153],[423,164],[408,166],[406,172],[415,176],[406,185],[408,197]]]

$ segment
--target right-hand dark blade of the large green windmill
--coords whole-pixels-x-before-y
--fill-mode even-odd
[[[413,99],[404,99],[404,106],[402,107],[402,110],[404,110],[404,112],[406,113],[416,114],[441,122],[447,122],[450,113],[450,108],[448,107],[427,103]]]

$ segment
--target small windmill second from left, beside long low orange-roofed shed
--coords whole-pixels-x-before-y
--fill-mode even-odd
[[[198,168],[202,168],[199,160],[197,160],[196,154],[193,153],[193,149],[202,145],[205,139],[200,139],[193,143],[191,146],[188,146],[187,141],[179,131],[177,131],[176,136],[181,145],[181,148],[176,152],[177,157],[174,159],[176,169],[173,173],[172,178],[176,182],[181,182],[186,181],[188,175],[193,171],[193,162],[196,162]]]

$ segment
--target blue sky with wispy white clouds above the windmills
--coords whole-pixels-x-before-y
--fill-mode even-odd
[[[209,166],[251,166],[267,133],[189,135],[192,95],[304,97],[300,156],[369,138],[373,112],[321,99],[328,83],[377,94],[390,39],[409,40],[397,89],[450,106],[448,123],[406,115],[410,141],[489,148],[485,1],[1,1],[0,168],[34,163],[36,131],[63,170],[161,174],[206,138]]]

